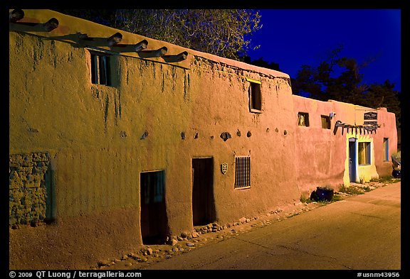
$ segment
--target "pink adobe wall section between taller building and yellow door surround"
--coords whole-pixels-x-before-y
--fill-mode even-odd
[[[298,187],[303,197],[310,197],[316,187],[337,189],[343,183],[345,173],[345,136],[340,131],[334,134],[333,128],[342,110],[332,102],[321,102],[300,96],[293,96],[293,122],[296,130],[295,157]],[[298,112],[309,114],[309,126],[298,126]],[[322,128],[321,115],[329,116],[330,129]]]

